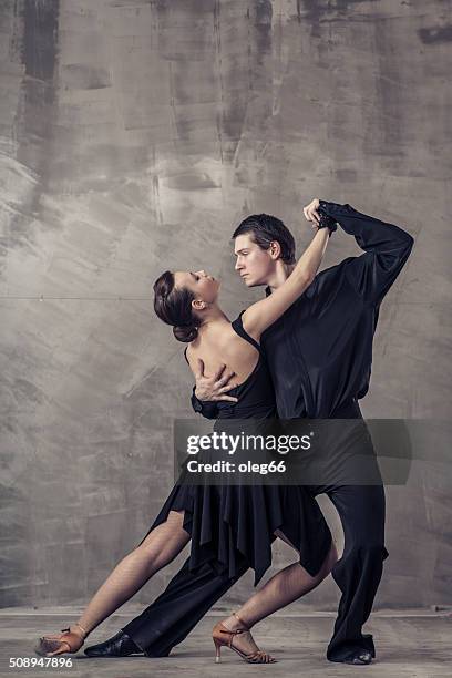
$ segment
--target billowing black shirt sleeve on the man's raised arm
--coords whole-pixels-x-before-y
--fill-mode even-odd
[[[410,256],[412,236],[348,204],[320,201],[319,213],[333,218],[364,250],[363,255],[347,259],[348,280],[367,302],[380,304]]]

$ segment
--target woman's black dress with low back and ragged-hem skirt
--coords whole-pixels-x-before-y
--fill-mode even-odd
[[[263,351],[244,329],[240,316],[232,327],[259,353],[249,377],[228,394],[238,402],[218,402],[219,420],[266,420],[276,417],[275,394]],[[182,476],[187,473],[183,470]],[[192,485],[186,476],[172,490],[150,532],[170,511],[184,511],[192,537],[189,568],[209,562],[230,578],[245,563],[255,571],[255,586],[271,564],[271,542],[280,530],[300,553],[300,564],[315,576],[331,546],[331,533],[316,500],[299,485]],[[145,535],[145,537],[147,536]],[[142,542],[145,540],[143,537]]]

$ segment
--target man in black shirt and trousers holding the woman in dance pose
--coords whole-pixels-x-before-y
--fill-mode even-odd
[[[358,400],[369,388],[372,339],[380,304],[407,261],[413,238],[392,224],[326,201],[312,201],[305,216],[314,226],[337,223],[364,250],[318,274],[311,286],[261,337],[281,419],[360,418]],[[278,288],[295,264],[295,242],[279,219],[248,217],[235,230],[236,269],[248,287]],[[227,396],[230,374],[199,374],[194,409],[215,418],[215,400]],[[230,407],[234,407],[232,403]],[[378,585],[384,547],[382,485],[311,485],[336,506],[345,532],[342,557],[332,569],[341,590],[338,617],[327,649],[330,661],[370,664],[373,639],[362,634]],[[166,656],[234,584],[206,563],[196,573],[188,562],[166,590],[116,636],[88,648],[89,656],[126,656],[143,649]],[[243,572],[246,565],[243,566]],[[240,575],[242,576],[242,575]],[[177,605],[174,605],[177,602]]]

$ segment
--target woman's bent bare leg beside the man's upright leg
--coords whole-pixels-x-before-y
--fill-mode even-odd
[[[275,532],[275,535],[297,551],[280,531]],[[297,600],[297,598],[300,598],[312,590],[312,588],[316,588],[316,586],[329,575],[337,559],[338,554],[336,545],[332,542],[331,548],[315,577],[308,574],[298,562],[288,565],[268,579],[268,582],[237,610],[238,617],[248,628],[251,628],[255,624],[268,617],[277,609],[289,605],[289,603]],[[243,627],[240,620],[235,615],[232,615],[225,619],[223,624],[226,628],[236,630]],[[258,649],[250,634],[240,634],[236,636],[234,638],[234,645],[246,653],[256,651],[256,649]]]

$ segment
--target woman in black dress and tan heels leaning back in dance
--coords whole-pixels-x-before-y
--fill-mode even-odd
[[[259,338],[311,284],[329,235],[329,227],[318,224],[311,244],[287,281],[234,322],[218,306],[218,281],[204,271],[166,271],[155,282],[155,311],[174,327],[178,340],[189,342],[186,359],[193,371],[197,359],[202,359],[207,371],[226,362],[235,372],[237,386],[228,390],[228,401],[220,403],[219,419],[266,420],[276,415]],[[279,244],[271,246],[277,258]],[[232,407],[230,400],[236,398],[238,402]],[[249,628],[317,586],[337,558],[316,501],[299,486],[204,486],[179,482],[148,533],[115,567],[79,622],[63,629],[63,635],[41,638],[37,651],[44,656],[78,651],[84,638],[173,561],[191,538],[193,568],[209,559],[234,577],[238,563],[245,559],[255,569],[257,583],[271,562],[270,545],[277,536],[298,552],[299,562],[274,575],[238,614],[218,623],[213,633],[217,661],[220,647],[228,645],[246,661],[273,662],[273,657],[258,649]]]

